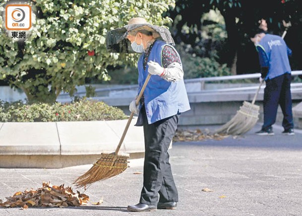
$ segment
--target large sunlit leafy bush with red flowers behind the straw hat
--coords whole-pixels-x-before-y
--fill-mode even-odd
[[[0,2],[3,13],[5,3]],[[171,22],[162,13],[174,0],[32,0],[33,27],[24,42],[16,42],[4,30],[0,17],[0,79],[21,88],[29,101],[54,102],[61,91],[76,91],[86,77],[108,79],[106,68],[133,55],[108,53],[109,30],[127,24],[135,16],[150,23]]]

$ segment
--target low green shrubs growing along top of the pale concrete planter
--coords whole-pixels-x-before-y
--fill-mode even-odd
[[[127,117],[121,109],[104,102],[80,99],[72,103],[23,104],[0,101],[0,122],[60,122],[119,120]]]

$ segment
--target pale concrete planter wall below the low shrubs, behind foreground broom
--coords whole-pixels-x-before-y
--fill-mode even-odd
[[[61,168],[95,162],[115,151],[128,120],[0,123],[0,167]],[[142,127],[131,122],[120,152],[142,157]]]

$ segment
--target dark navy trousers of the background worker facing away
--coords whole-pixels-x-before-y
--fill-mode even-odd
[[[283,113],[282,126],[285,130],[294,128],[291,96],[290,73],[266,80],[264,89],[263,111],[264,123],[262,130],[267,130],[276,122],[278,104]]]

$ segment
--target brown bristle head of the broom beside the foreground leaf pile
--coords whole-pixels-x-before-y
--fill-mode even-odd
[[[101,153],[93,166],[74,181],[78,188],[87,187],[97,181],[105,180],[122,173],[127,167],[129,154]]]

